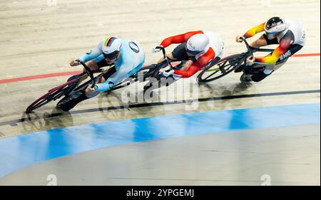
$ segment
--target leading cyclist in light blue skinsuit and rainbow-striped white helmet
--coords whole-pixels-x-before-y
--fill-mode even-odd
[[[90,53],[84,53],[78,59],[86,63],[91,70],[96,70],[113,63],[115,66],[109,69],[108,73],[105,73],[96,82],[94,88],[88,85],[86,91],[78,96],[78,98],[72,98],[66,100],[66,102],[59,103],[57,107],[63,111],[71,110],[79,102],[93,98],[98,95],[98,93],[109,90],[113,85],[120,83],[122,80],[138,72],[138,70],[141,70],[145,62],[145,53],[137,41],[108,37],[93,48]],[[76,58],[71,58],[70,65],[79,65],[76,60]],[[73,75],[68,80],[81,77],[83,73]]]

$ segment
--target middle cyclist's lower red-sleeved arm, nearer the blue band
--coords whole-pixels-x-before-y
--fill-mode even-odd
[[[174,70],[174,74],[179,75],[182,78],[189,78],[199,70],[201,70],[213,58],[215,58],[215,52],[212,48],[210,48],[208,52],[206,52],[203,56],[200,56],[200,58],[198,58],[195,63],[190,65],[188,70]]]

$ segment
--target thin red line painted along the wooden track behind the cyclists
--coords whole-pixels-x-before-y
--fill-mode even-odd
[[[295,54],[292,57],[308,57],[308,56],[320,56],[320,53],[302,53],[302,54]],[[3,79],[3,80],[0,80],[0,84],[18,82],[18,81],[23,81],[23,80],[51,78],[51,77],[57,77],[57,76],[63,76],[63,75],[73,75],[73,74],[77,74],[77,73],[81,73],[81,71],[69,71],[69,72],[62,72],[62,73],[31,75],[31,76],[24,76],[24,77],[19,77],[19,78]]]

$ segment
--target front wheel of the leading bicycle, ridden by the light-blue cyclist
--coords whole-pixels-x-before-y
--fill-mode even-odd
[[[59,85],[56,88],[49,90],[48,93],[42,95],[39,99],[35,100],[29,107],[26,108],[26,112],[30,113],[31,111],[46,105],[47,103],[57,100],[61,98],[63,95],[67,95],[70,93],[74,88],[77,87],[78,79],[74,79],[64,83],[63,85]]]

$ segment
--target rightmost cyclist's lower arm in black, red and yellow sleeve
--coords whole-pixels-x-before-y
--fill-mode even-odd
[[[295,38],[291,31],[287,31],[285,36],[280,40],[280,45],[275,48],[275,51],[272,52],[270,56],[265,56],[263,58],[255,58],[255,63],[267,63],[267,64],[275,64],[277,60],[279,60],[280,56],[282,56],[287,48],[289,48],[294,42]]]

